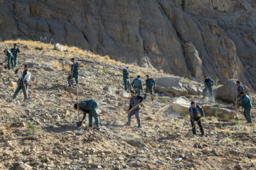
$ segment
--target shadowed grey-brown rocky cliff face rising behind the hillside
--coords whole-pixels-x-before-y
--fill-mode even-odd
[[[74,45],[191,79],[241,79],[255,89],[255,6],[254,0],[1,0],[0,33],[1,40]]]

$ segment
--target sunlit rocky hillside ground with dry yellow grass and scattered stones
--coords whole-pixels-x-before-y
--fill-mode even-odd
[[[11,46],[11,42],[4,45]],[[1,65],[0,169],[256,169],[256,125],[245,122],[242,108],[238,123],[203,118],[206,137],[201,137],[198,129],[193,137],[188,114],[171,109],[177,98],[156,94],[154,103],[150,97],[143,103],[142,128],[137,128],[135,118],[129,128],[124,126],[129,106],[129,94],[122,85],[124,64],[75,47],[60,52],[38,42],[19,46],[19,64],[30,67],[29,96],[33,102],[23,103],[22,93],[16,101],[6,102],[14,94],[18,75]],[[68,88],[66,81],[70,57],[94,62],[80,62],[79,98],[100,103],[100,131],[86,128],[87,120],[82,130],[75,127],[76,91],[75,87]],[[131,79],[137,74],[169,76],[130,67]],[[202,96],[186,98],[234,110],[231,104],[208,103]],[[253,108],[253,120],[255,113]]]

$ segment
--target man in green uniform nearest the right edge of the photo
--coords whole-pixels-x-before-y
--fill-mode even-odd
[[[241,98],[238,101],[238,108],[242,106],[242,108],[245,109],[243,112],[245,119],[247,120],[247,123],[252,123],[252,115],[250,113],[252,102],[250,101],[250,97],[243,91],[240,93],[240,96]]]

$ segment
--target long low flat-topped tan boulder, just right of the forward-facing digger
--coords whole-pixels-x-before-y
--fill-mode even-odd
[[[235,111],[227,108],[218,108],[210,105],[203,105],[201,107],[206,116],[217,116],[222,119],[234,119],[235,117]]]

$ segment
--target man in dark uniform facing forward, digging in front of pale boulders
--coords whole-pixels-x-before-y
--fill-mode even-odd
[[[197,123],[200,128],[201,135],[204,136],[205,132],[203,130],[203,125],[201,123],[201,118],[205,117],[203,108],[201,108],[201,106],[196,104],[195,101],[191,101],[191,107],[189,108],[189,113],[191,115],[191,126],[192,126],[193,135],[196,135],[196,123]]]

